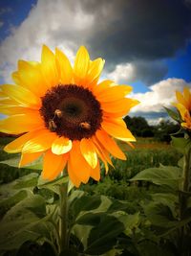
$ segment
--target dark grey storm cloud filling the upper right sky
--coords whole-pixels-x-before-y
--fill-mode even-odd
[[[92,52],[115,64],[172,57],[191,35],[188,0],[82,0],[81,8],[95,15]]]

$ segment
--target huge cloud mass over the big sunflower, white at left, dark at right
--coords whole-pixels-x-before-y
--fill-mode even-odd
[[[43,43],[71,59],[84,44],[92,58],[106,59],[107,73],[118,81],[153,84],[167,71],[161,59],[191,36],[189,7],[188,0],[38,0],[1,42],[0,76],[10,81],[19,58],[39,59]]]

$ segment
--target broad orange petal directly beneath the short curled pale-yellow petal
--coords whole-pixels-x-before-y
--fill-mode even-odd
[[[57,155],[51,150],[46,151],[43,160],[42,177],[44,179],[53,180],[65,168],[68,161],[68,154]]]

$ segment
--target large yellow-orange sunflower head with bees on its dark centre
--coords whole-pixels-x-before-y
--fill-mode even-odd
[[[21,152],[19,166],[43,155],[44,179],[52,180],[67,165],[76,187],[90,176],[100,178],[99,159],[108,170],[110,154],[126,159],[114,138],[135,141],[122,116],[138,101],[126,98],[131,86],[105,80],[98,83],[102,58],[91,60],[81,46],[72,67],[58,49],[43,46],[41,62],[18,61],[15,84],[1,85],[0,110],[9,117],[0,130],[18,137],[5,147]]]

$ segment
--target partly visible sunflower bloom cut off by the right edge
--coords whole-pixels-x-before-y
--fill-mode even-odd
[[[176,97],[178,103],[174,104],[181,117],[181,127],[186,129],[191,129],[191,91],[188,87],[184,87],[183,93],[176,91]]]

